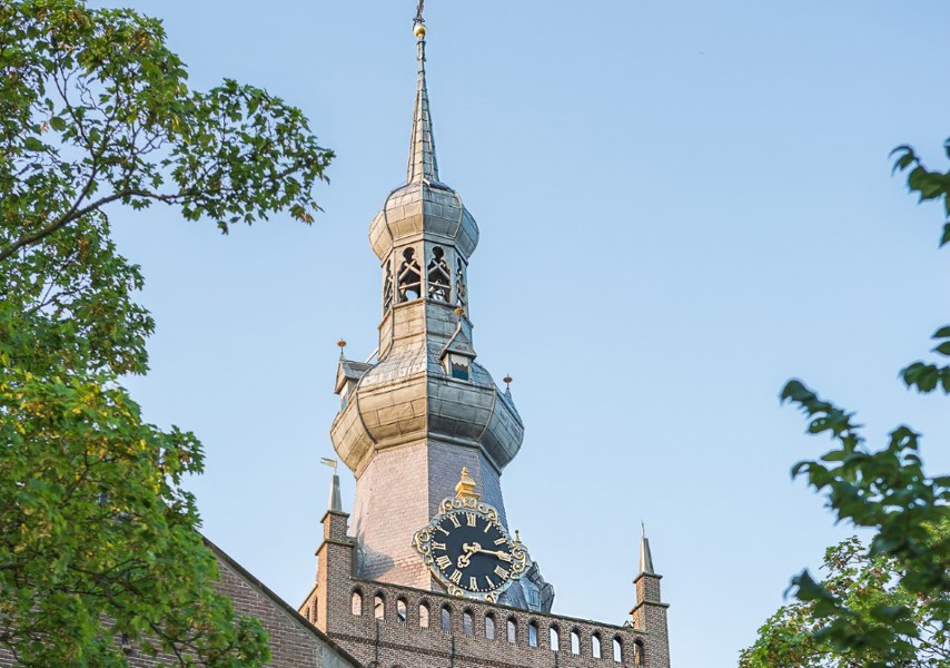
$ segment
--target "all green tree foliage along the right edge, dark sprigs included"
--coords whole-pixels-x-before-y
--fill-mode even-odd
[[[944,148],[950,157],[950,140]],[[942,199],[950,219],[950,173],[929,170],[909,146],[893,155],[895,171],[910,170],[910,190],[920,202]],[[940,246],[948,243],[950,222]],[[950,356],[950,325],[933,338],[932,352]],[[946,364],[918,361],[901,377],[918,392],[950,393]],[[760,629],[742,665],[950,666],[950,477],[924,473],[920,434],[909,426],[894,429],[887,446],[873,451],[853,413],[802,382],[789,381],[781,397],[806,415],[809,433],[827,433],[834,442],[819,460],[795,464],[792,477],[823,492],[838,521],[872,537],[867,546],[849,541],[829,550],[829,579],[817,582],[808,571],[793,578],[798,602]]]

